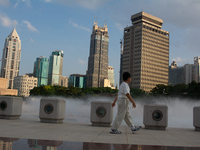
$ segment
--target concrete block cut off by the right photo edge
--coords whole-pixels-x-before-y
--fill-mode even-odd
[[[200,106],[193,108],[193,126],[196,131],[200,131]]]

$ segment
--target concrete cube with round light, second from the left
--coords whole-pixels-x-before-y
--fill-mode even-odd
[[[40,100],[40,122],[63,123],[66,101],[59,98],[42,98]]]

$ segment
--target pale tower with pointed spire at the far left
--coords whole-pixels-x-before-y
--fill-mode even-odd
[[[5,40],[1,63],[1,77],[8,79],[9,89],[13,89],[14,77],[19,75],[20,57],[21,40],[14,28]]]

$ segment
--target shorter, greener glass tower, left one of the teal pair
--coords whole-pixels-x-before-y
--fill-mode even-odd
[[[36,58],[33,74],[38,78],[37,86],[48,85],[49,59],[43,56]]]

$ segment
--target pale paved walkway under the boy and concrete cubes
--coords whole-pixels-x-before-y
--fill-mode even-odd
[[[0,119],[0,137],[46,139],[73,142],[117,143],[200,147],[200,132],[193,129],[167,128],[166,131],[142,129],[136,134],[122,125],[122,134],[110,134],[109,127],[94,127],[87,123],[40,123],[38,119]]]

